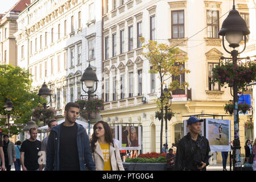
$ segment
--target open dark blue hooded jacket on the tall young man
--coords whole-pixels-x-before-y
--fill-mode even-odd
[[[78,123],[75,123],[75,125],[77,125],[77,148],[79,151],[80,170],[86,171],[86,168],[88,168],[89,170],[95,171],[96,167],[92,159],[89,137],[86,130]],[[51,133],[49,134],[46,152],[47,171],[59,171],[60,126],[52,127]]]

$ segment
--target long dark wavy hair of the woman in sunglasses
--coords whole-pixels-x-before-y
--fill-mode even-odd
[[[94,126],[93,126],[93,134],[92,134],[92,139],[90,140],[90,148],[92,152],[95,150],[95,143],[97,142],[98,138],[95,135],[95,128],[98,125],[98,123],[101,123],[104,127],[105,130],[105,140],[107,143],[113,143],[113,135],[110,129],[110,126],[107,122],[105,121],[98,121]]]

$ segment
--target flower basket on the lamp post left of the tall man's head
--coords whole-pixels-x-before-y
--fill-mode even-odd
[[[51,107],[44,109],[43,106],[39,106],[32,110],[33,117],[39,120],[43,120],[44,118],[54,118],[55,113],[56,111]]]

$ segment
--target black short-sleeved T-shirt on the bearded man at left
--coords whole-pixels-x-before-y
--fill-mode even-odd
[[[24,166],[28,170],[36,170],[39,168],[38,164],[38,152],[41,150],[41,142],[35,140],[34,142],[30,140],[25,140],[22,143],[20,152],[24,152]]]

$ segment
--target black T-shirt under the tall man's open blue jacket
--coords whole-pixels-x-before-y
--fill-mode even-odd
[[[77,126],[60,126],[60,171],[80,171]]]

